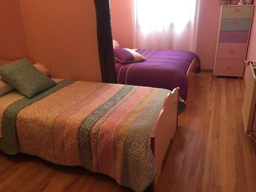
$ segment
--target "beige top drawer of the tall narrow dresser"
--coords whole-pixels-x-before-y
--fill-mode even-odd
[[[222,18],[251,18],[253,6],[223,7]]]

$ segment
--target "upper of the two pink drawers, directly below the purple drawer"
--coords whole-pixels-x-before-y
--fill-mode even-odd
[[[247,44],[239,42],[220,42],[218,59],[245,59]]]

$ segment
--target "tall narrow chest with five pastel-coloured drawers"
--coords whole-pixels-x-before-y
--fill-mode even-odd
[[[254,5],[221,6],[215,76],[242,77]]]

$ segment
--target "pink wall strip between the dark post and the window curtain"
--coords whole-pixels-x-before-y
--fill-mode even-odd
[[[112,35],[123,48],[133,48],[133,0],[111,0]]]

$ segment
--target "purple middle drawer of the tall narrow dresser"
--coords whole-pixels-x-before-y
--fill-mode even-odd
[[[247,42],[249,31],[221,31],[219,42]]]

